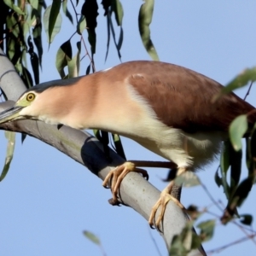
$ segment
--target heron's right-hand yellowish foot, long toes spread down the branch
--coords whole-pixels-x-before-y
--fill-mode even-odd
[[[181,204],[180,201],[177,200],[177,198],[170,195],[170,188],[168,186],[166,189],[164,189],[161,192],[160,199],[154,204],[154,207],[151,210],[150,216],[148,218],[148,224],[150,225],[150,228],[153,229],[155,227],[156,230],[160,231],[160,222],[164,218],[164,214],[166,211],[166,205],[169,201],[174,201],[177,204],[177,206],[180,207],[182,210],[185,209],[185,207],[183,207],[183,205]],[[156,212],[159,207],[161,207],[160,214],[159,214],[158,218],[156,219],[156,221],[154,222],[155,215],[156,215]]]

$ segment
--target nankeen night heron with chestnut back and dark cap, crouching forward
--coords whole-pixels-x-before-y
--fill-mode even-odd
[[[20,96],[13,108],[0,114],[0,123],[17,119],[37,119],[76,129],[95,128],[129,137],[170,160],[177,175],[201,168],[219,153],[228,137],[230,122],[254,108],[230,93],[212,103],[221,84],[184,67],[158,61],[131,61],[76,79],[37,85]],[[253,125],[256,114],[248,115]],[[125,162],[109,173],[113,201],[127,172],[143,162]],[[150,165],[149,165],[150,166]],[[171,195],[173,180],[161,192],[149,224],[159,227],[166,203],[183,207]]]

